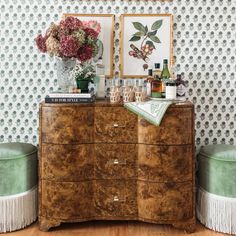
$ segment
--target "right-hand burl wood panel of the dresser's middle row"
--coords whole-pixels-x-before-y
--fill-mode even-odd
[[[138,179],[156,182],[192,180],[191,145],[154,146],[139,144]]]

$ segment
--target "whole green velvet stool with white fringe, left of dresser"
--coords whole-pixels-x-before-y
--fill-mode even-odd
[[[37,148],[0,144],[0,233],[24,228],[37,218]]]

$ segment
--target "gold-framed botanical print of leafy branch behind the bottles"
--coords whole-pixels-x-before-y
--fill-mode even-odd
[[[121,78],[142,78],[154,63],[173,64],[171,14],[121,15]]]

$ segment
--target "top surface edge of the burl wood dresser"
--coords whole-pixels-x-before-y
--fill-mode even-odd
[[[45,103],[41,102],[42,107],[122,107],[123,102],[110,103],[108,99],[97,100],[93,103]],[[171,107],[192,107],[193,104],[190,101],[174,101]]]

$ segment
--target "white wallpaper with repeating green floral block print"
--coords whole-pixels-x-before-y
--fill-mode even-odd
[[[195,104],[196,145],[236,143],[235,0],[1,0],[0,143],[38,143],[38,106],[57,86],[56,61],[34,38],[63,13],[110,13],[115,20],[115,73],[119,74],[119,15],[173,14],[177,73]],[[184,125],[184,124],[183,124]]]

